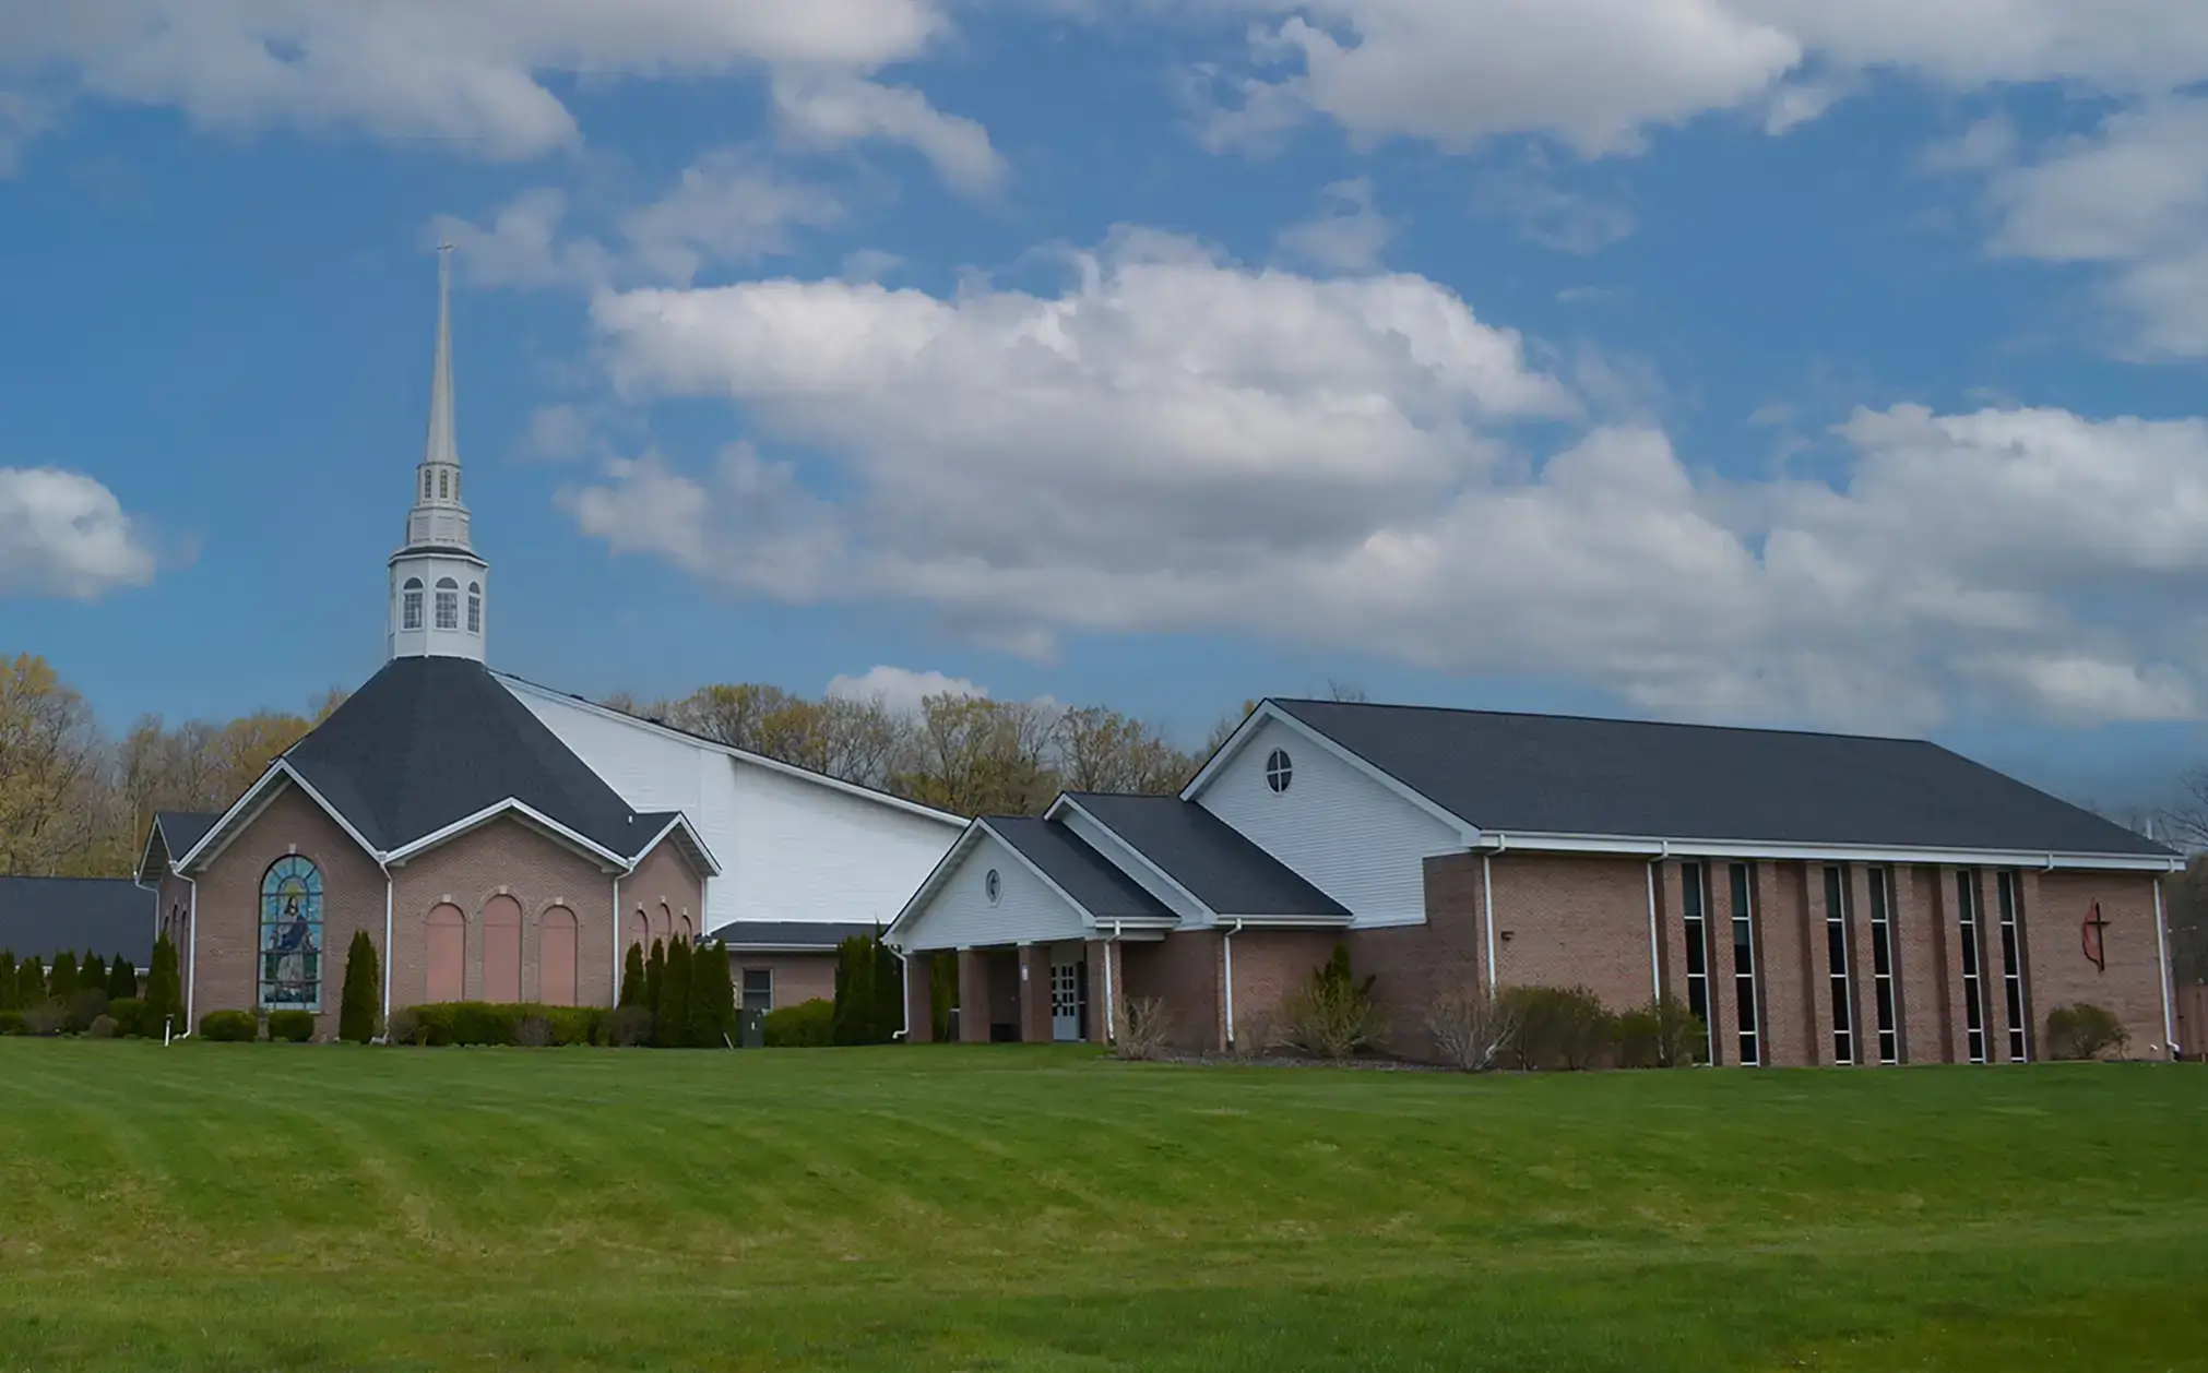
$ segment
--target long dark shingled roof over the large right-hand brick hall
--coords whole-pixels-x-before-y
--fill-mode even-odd
[[[2170,850],[1936,744],[1773,728],[1276,700],[1490,832],[2045,854]]]

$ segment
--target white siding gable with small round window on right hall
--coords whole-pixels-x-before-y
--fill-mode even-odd
[[[1265,784],[1274,748],[1294,764],[1285,792]],[[1464,848],[1457,830],[1278,720],[1259,724],[1195,801],[1349,907],[1354,925],[1424,920],[1424,859]]]

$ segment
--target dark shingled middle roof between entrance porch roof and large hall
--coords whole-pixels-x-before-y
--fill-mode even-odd
[[[1069,797],[1223,916],[1349,916],[1338,901],[1195,801],[1111,792]]]

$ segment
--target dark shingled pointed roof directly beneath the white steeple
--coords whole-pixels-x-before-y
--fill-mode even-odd
[[[466,658],[386,662],[285,759],[384,852],[508,797],[623,856],[673,819],[634,817],[543,720]]]

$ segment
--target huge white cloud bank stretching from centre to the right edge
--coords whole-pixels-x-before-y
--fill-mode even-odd
[[[1846,479],[1698,477],[1418,276],[1252,272],[1122,234],[1058,296],[843,280],[603,296],[631,395],[729,448],[567,494],[616,550],[799,603],[903,598],[1047,653],[1243,631],[1663,711],[1925,724],[2199,709],[2208,424],[1864,411]],[[824,494],[832,492],[832,494]]]

